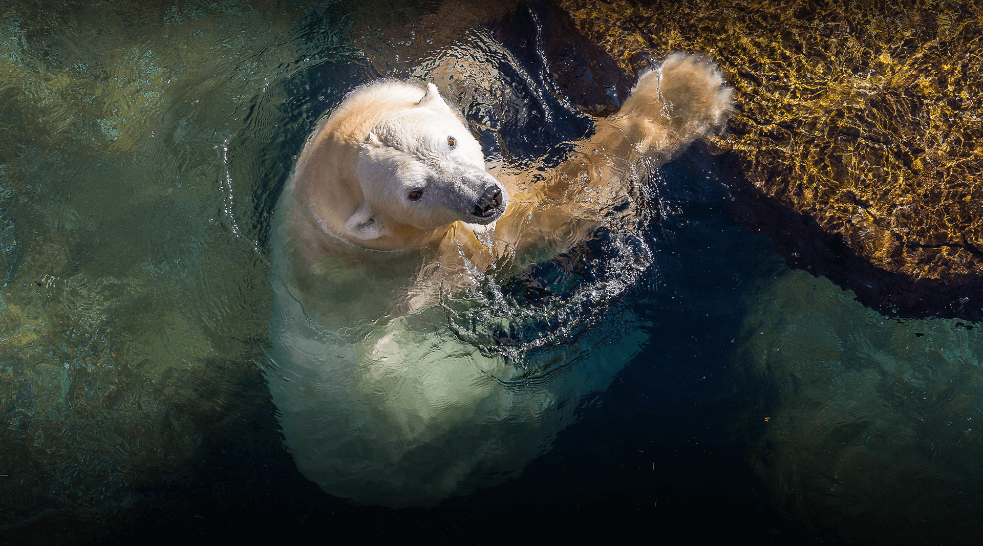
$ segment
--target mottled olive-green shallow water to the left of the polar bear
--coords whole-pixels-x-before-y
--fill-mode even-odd
[[[298,122],[282,82],[351,24],[293,3],[2,9],[10,521],[185,479],[202,437],[256,404],[271,300],[256,199],[290,168],[264,150]]]

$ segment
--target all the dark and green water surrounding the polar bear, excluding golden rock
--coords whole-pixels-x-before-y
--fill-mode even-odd
[[[552,78],[550,40],[566,30],[547,7],[454,6],[3,8],[5,541],[509,537],[514,521],[550,538],[978,538],[981,329],[889,319],[787,270],[735,225],[732,173],[699,147],[645,186],[638,232],[571,252],[646,255],[618,253],[619,241],[650,252],[573,338],[515,312],[523,301],[560,312],[613,275],[574,259],[496,280],[512,298],[509,331],[450,323],[492,353],[516,349],[495,336],[637,333],[597,345],[641,352],[577,400],[549,449],[434,509],[351,504],[298,472],[263,380],[268,246],[318,118],[359,83],[453,65],[491,91],[448,78],[448,98],[492,160],[522,166],[588,131],[570,97],[623,98],[621,82]],[[567,292],[537,300],[543,280]]]

